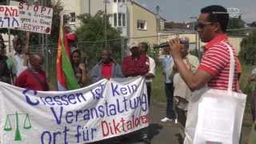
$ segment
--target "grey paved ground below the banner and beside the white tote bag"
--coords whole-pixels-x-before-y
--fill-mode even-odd
[[[150,139],[151,144],[182,144],[182,126],[174,122],[161,122],[166,115],[165,103],[152,102],[150,108]],[[122,139],[111,139],[93,144],[143,144],[139,133],[129,134]]]

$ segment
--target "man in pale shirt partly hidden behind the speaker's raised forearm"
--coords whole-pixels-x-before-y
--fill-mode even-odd
[[[180,43],[180,53],[183,62],[186,64],[187,68],[194,73],[198,68],[199,60],[189,53],[189,38],[180,38]],[[178,122],[180,122],[182,126],[186,124],[186,109],[188,102],[190,102],[191,95],[192,92],[189,86],[186,85],[186,82],[184,82],[180,74],[178,74],[176,66],[174,65],[174,103]]]

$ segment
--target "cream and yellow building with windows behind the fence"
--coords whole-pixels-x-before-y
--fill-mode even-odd
[[[98,10],[110,14],[110,24],[122,31],[124,38],[143,38],[144,41],[157,43],[158,30],[164,28],[165,19],[147,10],[132,0],[62,0],[66,14],[70,14],[70,25],[79,26],[79,14],[94,15]],[[140,38],[142,39],[142,38]],[[138,39],[138,41],[140,41]]]

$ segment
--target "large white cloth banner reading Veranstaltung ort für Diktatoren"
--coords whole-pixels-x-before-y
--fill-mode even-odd
[[[0,107],[0,143],[88,143],[149,125],[142,77],[49,92],[0,82]]]

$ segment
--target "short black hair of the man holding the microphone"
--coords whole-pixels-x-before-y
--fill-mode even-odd
[[[223,32],[226,32],[226,27],[229,22],[229,13],[223,6],[212,5],[202,8],[201,13],[208,13],[209,22],[218,22]]]

